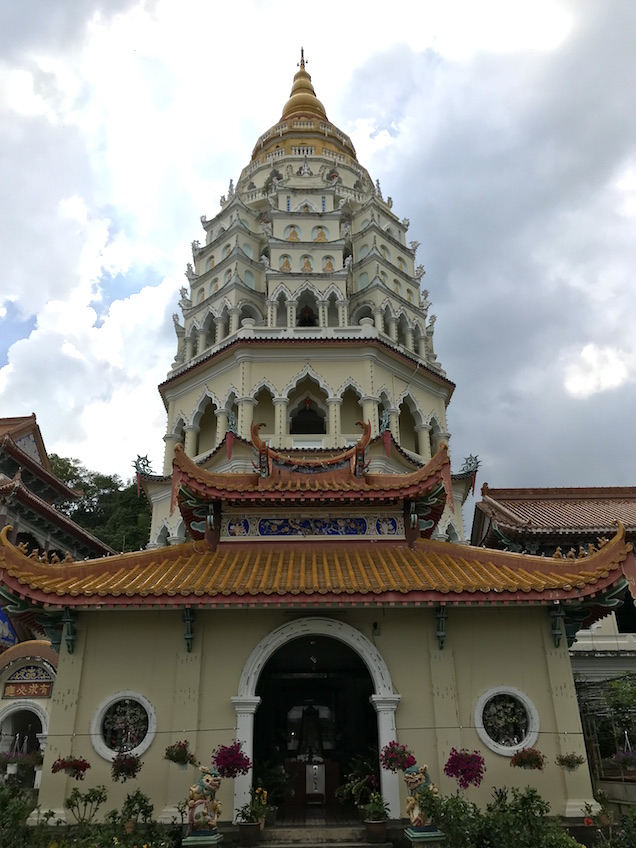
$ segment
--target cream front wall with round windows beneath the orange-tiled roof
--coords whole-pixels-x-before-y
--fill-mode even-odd
[[[443,650],[431,609],[352,610],[338,618],[360,630],[380,651],[394,690],[401,695],[396,714],[399,741],[412,748],[420,763],[428,764],[442,792],[456,789],[443,774],[454,745],[477,748],[486,760],[483,786],[467,793],[479,804],[487,803],[493,786],[504,785],[534,786],[555,813],[563,812],[568,801],[576,806],[581,799],[591,799],[584,769],[565,774],[554,764],[557,753],[583,749],[567,648],[554,648],[544,608],[451,608]],[[230,699],[237,694],[243,666],[259,641],[289,620],[283,612],[199,611],[188,654],[180,611],[81,613],[75,653],[69,655],[63,648],[60,656],[39,798],[42,808],[61,809],[64,795],[73,788],[64,776],[50,774],[53,760],[71,752],[91,763],[86,787],[105,783],[108,807],[121,803],[132,784],[111,783],[109,765],[93,750],[88,729],[99,705],[125,689],[144,695],[157,713],[157,736],[142,756],[144,767],[134,786],[151,796],[157,814],[174,807],[196,772],[179,771],[164,761],[166,745],[187,737],[205,764],[216,745],[233,739]],[[374,622],[379,625],[376,636]],[[548,757],[544,772],[511,769],[509,759],[491,752],[474,729],[477,699],[501,685],[520,689],[539,712],[537,747]],[[232,781],[224,781],[219,795],[224,819],[231,815],[232,793]],[[401,793],[404,809],[403,788]]]

